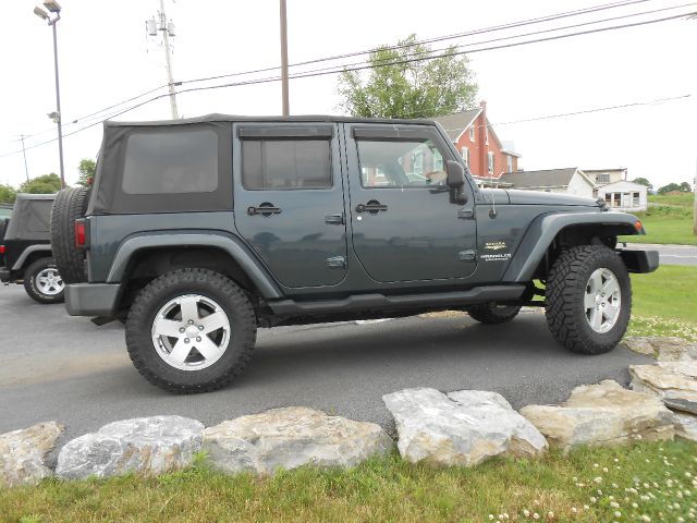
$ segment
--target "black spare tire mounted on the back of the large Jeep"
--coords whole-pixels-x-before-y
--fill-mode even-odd
[[[89,193],[88,187],[64,188],[51,208],[51,250],[64,283],[87,280],[85,254],[75,246],[75,220],[85,216]]]

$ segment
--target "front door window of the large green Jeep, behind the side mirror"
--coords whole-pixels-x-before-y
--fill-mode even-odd
[[[445,185],[443,156],[430,139],[357,139],[364,187]]]

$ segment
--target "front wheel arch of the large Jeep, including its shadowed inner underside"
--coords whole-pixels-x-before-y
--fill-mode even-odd
[[[638,224],[638,226],[637,226]],[[530,281],[551,266],[565,247],[606,244],[614,248],[616,236],[646,234],[639,219],[621,212],[571,212],[538,216],[528,228],[504,281]]]

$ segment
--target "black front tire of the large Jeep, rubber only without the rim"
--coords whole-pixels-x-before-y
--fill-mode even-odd
[[[607,268],[620,284],[621,305],[608,332],[595,331],[586,316],[584,297],[590,275]],[[573,352],[602,354],[624,336],[632,312],[632,282],[622,258],[602,245],[572,247],[554,262],[545,292],[547,325],[554,339]]]

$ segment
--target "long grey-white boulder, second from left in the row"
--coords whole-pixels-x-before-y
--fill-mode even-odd
[[[181,416],[136,417],[110,423],[69,441],[56,474],[65,479],[110,477],[130,472],[160,474],[192,464],[204,425]]]

